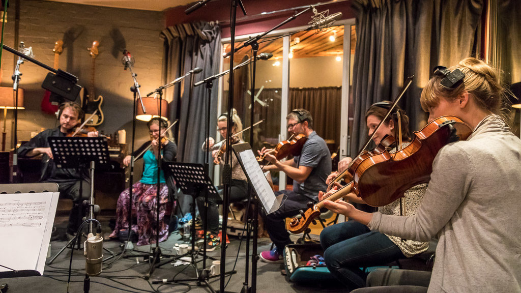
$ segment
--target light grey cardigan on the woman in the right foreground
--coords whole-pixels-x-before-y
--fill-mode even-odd
[[[375,213],[368,227],[406,239],[439,236],[429,293],[521,292],[521,140],[489,115],[444,146],[413,216]]]

